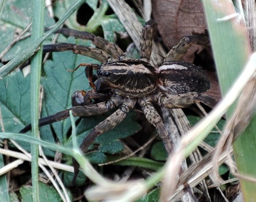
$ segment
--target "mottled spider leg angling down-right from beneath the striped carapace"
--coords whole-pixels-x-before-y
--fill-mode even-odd
[[[170,140],[168,132],[165,129],[164,123],[157,110],[150,100],[140,99],[138,102],[144,111],[147,121],[156,127],[159,136],[163,139],[166,151],[170,153],[173,150],[172,140]]]

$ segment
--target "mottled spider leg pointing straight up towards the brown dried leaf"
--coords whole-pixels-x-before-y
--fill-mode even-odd
[[[140,35],[140,59],[145,62],[150,61],[155,25],[156,23],[154,20],[147,21],[146,25],[142,28]]]

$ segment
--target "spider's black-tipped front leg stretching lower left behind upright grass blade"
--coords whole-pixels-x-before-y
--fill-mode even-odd
[[[104,95],[104,94],[103,94]],[[59,111],[58,113],[44,117],[39,119],[39,127],[48,125],[51,123],[55,123],[61,121],[63,119],[67,119],[69,117],[69,111],[72,110],[72,114],[74,117],[90,117],[94,115],[100,115],[109,111],[110,109],[115,108],[116,106],[120,105],[122,100],[120,96],[112,97],[105,102],[100,102],[93,105],[88,106],[74,106],[70,109],[66,109],[63,111]],[[20,133],[25,133],[31,130],[31,124],[27,125],[25,128],[20,130]]]

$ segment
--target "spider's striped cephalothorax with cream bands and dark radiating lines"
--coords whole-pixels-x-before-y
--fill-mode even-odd
[[[111,91],[125,97],[144,97],[156,88],[154,67],[142,60],[128,59],[99,66],[97,91]]]

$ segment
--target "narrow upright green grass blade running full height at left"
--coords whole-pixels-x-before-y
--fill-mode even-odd
[[[44,12],[45,1],[33,1],[32,14],[32,42],[35,42],[44,34]],[[31,99],[31,132],[34,138],[39,138],[38,117],[39,117],[39,87],[40,73],[42,65],[42,44],[39,50],[31,58],[31,75],[30,75],[30,99]],[[31,173],[32,173],[32,193],[33,201],[39,201],[38,188],[38,145],[31,144]]]

